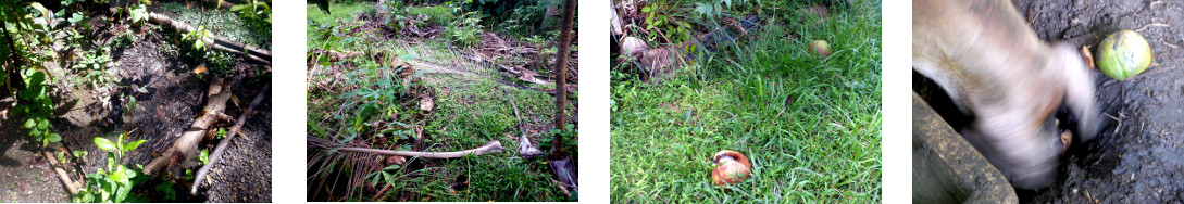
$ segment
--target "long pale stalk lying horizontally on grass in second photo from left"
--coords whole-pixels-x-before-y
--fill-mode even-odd
[[[497,153],[497,152],[502,152],[502,150],[506,150],[504,147],[502,147],[502,142],[498,142],[496,139],[490,140],[489,143],[485,143],[485,145],[481,145],[480,147],[470,149],[470,150],[465,150],[465,151],[456,151],[456,152],[417,152],[417,151],[379,150],[379,149],[369,149],[369,147],[350,147],[350,146],[345,146],[345,145],[332,143],[332,142],[326,142],[324,139],[311,137],[311,136],[307,136],[305,138],[308,140],[308,146],[309,147],[320,147],[320,149],[328,149],[328,150],[336,150],[336,151],[347,151],[347,152],[362,152],[362,153],[377,153],[377,154],[387,154],[387,156],[423,157],[423,158],[438,158],[438,159],[439,158],[458,158],[458,157],[464,157],[464,156],[469,156],[469,154],[481,156],[481,154],[485,154],[485,153]]]

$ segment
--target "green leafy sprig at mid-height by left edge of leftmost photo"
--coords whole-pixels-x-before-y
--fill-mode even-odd
[[[25,70],[21,73],[21,78],[24,79],[25,88],[20,91],[20,103],[17,105],[17,112],[27,118],[24,127],[28,129],[28,136],[33,140],[40,142],[43,146],[60,142],[62,136],[51,131],[53,126],[50,124],[50,116],[53,114],[53,99],[46,96],[50,87],[45,85],[45,73]]]

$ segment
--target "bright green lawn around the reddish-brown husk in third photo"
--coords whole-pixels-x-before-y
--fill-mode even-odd
[[[741,40],[744,47],[665,83],[642,83],[614,67],[612,200],[879,202],[879,11],[877,2],[832,11],[821,27],[779,19]],[[802,40],[786,39],[790,31]],[[807,54],[812,39],[830,42],[834,54]],[[748,156],[753,178],[714,186],[710,157],[720,150]]]

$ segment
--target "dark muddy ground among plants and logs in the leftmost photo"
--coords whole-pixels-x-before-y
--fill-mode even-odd
[[[156,11],[154,11],[156,12]],[[112,38],[112,32],[122,31],[120,25],[105,24],[97,26],[94,33],[101,40]],[[89,156],[78,165],[69,167],[75,180],[83,179],[83,172],[95,172],[104,166],[105,153],[94,145],[95,137],[104,137],[115,142],[124,131],[133,131],[127,139],[146,139],[139,149],[128,153],[123,162],[128,166],[147,164],[154,157],[168,149],[179,134],[192,125],[194,117],[205,106],[205,94],[213,75],[194,74],[192,71],[205,66],[189,58],[168,54],[175,50],[173,33],[169,29],[159,32],[137,32],[136,44],[126,48],[112,48],[111,58],[120,61],[116,90],[102,91],[86,86],[69,86],[56,81],[58,96],[51,96],[56,103],[56,114],[51,118],[53,131],[63,136],[59,144],[51,144],[51,151],[62,149],[69,151],[83,150]],[[84,47],[85,48],[85,47]],[[270,83],[269,75],[260,75],[270,68],[264,65],[245,64],[242,59],[231,67],[242,80],[233,85],[238,103],[229,103],[226,113],[233,117],[244,114],[250,101],[263,85]],[[70,61],[46,62],[54,74],[65,73]],[[144,87],[147,92],[137,92],[134,87]],[[103,92],[112,96],[110,104],[104,106]],[[135,96],[137,107],[131,116],[124,100],[118,96]],[[270,96],[270,93],[264,93]],[[12,96],[0,96],[0,107],[11,107]],[[6,108],[4,108],[6,110]],[[53,169],[41,156],[40,145],[32,143],[27,130],[18,129],[25,119],[22,116],[6,113],[0,118],[0,202],[53,203],[70,202],[70,192],[65,189]],[[188,196],[188,182],[179,180],[178,200],[181,202],[270,202],[271,200],[271,98],[265,97],[250,113],[244,125],[246,138],[238,137],[231,143],[226,154],[211,170],[212,184],[204,185],[198,196]],[[229,127],[231,124],[221,124]],[[208,144],[202,146],[212,151]],[[193,163],[193,162],[189,162]],[[187,166],[194,171],[200,166]],[[78,172],[82,170],[83,172]],[[184,171],[184,170],[182,170]],[[180,177],[180,175],[174,175]],[[137,185],[133,190],[154,202],[166,202],[155,185],[160,179]],[[207,183],[208,184],[208,183]]]

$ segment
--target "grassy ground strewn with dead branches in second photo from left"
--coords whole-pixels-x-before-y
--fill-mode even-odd
[[[363,25],[354,20],[365,9],[372,9],[372,5],[366,4],[335,4],[330,7],[332,15],[326,15],[315,5],[308,6],[309,20],[318,25],[309,26],[309,51],[327,50],[336,52],[388,52],[400,55],[399,59],[411,61],[423,61],[425,59],[442,60],[452,58],[439,55],[445,51],[456,51],[446,41],[424,40],[420,44],[411,45],[400,39],[385,39],[374,35],[374,32],[350,32],[354,27]],[[452,59],[448,59],[452,60]],[[458,60],[459,61],[459,60]],[[390,184],[390,191],[366,190],[365,185],[352,187],[359,193],[342,199],[346,195],[341,187],[316,186],[309,189],[326,195],[326,189],[334,189],[332,200],[359,200],[359,202],[487,202],[487,200],[565,200],[567,196],[561,193],[560,187],[552,182],[552,169],[547,164],[546,156],[532,159],[522,158],[517,152],[517,129],[519,119],[514,114],[509,98],[513,98],[521,111],[523,119],[528,124],[527,134],[540,146],[545,146],[549,153],[549,139],[552,134],[552,116],[555,113],[554,100],[551,94],[539,91],[520,90],[506,86],[489,79],[442,72],[431,70],[429,66],[414,67],[422,80],[419,83],[424,90],[430,90],[436,96],[435,110],[423,112],[418,110],[419,100],[412,97],[378,97],[366,98],[355,94],[356,92],[378,92],[374,96],[399,96],[407,92],[405,88],[390,88],[392,84],[399,84],[399,79],[391,81],[390,74],[371,58],[359,57],[330,62],[332,66],[341,68],[342,75],[326,72],[326,74],[309,75],[314,81],[340,79],[343,88],[321,88],[309,85],[308,118],[309,134],[318,138],[348,138],[333,139],[347,140],[350,144],[366,144],[375,147],[390,146],[393,142],[375,142],[372,137],[374,129],[369,131],[353,131],[350,124],[374,124],[384,121],[388,124],[405,124],[412,127],[423,127],[424,140],[419,145],[429,152],[462,151],[481,146],[490,140],[500,140],[506,149],[500,153],[488,153],[482,156],[468,156],[452,159],[426,159],[407,158],[408,164],[394,166],[386,170],[375,171],[366,166],[355,166],[349,163],[328,164],[337,171],[361,171],[368,173],[390,173],[392,179],[367,176],[365,180],[377,180],[375,189],[382,189]],[[461,64],[449,64],[449,68],[464,70]],[[324,70],[328,66],[321,66]],[[470,67],[471,68],[471,67]],[[489,68],[489,67],[485,67]],[[477,67],[476,70],[481,70]],[[494,70],[494,68],[489,68]],[[397,71],[395,71],[397,72]],[[496,72],[496,70],[490,71]],[[487,74],[487,73],[482,73]],[[493,73],[496,74],[496,73]],[[386,77],[386,78],[384,78]],[[378,88],[375,88],[378,87]],[[342,92],[340,90],[345,90]],[[398,90],[398,91],[392,91]],[[414,88],[412,88],[414,90]],[[504,90],[504,91],[503,91]],[[508,94],[507,94],[508,92]],[[419,93],[413,93],[419,94]],[[362,104],[381,101],[381,110],[377,113],[366,114]],[[393,103],[385,103],[393,101]],[[568,113],[575,110],[577,99],[570,100]],[[568,119],[574,123],[573,119]],[[354,125],[358,130],[365,130],[365,125]],[[398,126],[395,126],[398,129]],[[400,130],[401,131],[401,130]],[[574,131],[574,130],[568,130]],[[342,136],[346,134],[346,136]],[[352,136],[355,134],[355,136]],[[353,140],[353,142],[349,142]],[[361,140],[361,142],[359,142]],[[578,137],[570,136],[565,139],[566,151],[578,160],[579,150]],[[407,146],[403,146],[407,147]],[[318,150],[310,150],[318,151]],[[320,152],[316,152],[320,153]],[[373,156],[367,156],[373,157]],[[314,163],[314,160],[309,160]],[[382,166],[379,166],[382,169]],[[310,178],[314,176],[310,173]],[[309,180],[310,184],[314,180]],[[318,180],[317,180],[318,182]],[[329,180],[329,183],[341,183],[341,180]],[[459,187],[458,187],[459,186]],[[379,193],[381,192],[381,193]],[[323,198],[323,197],[320,197]],[[310,199],[320,199],[310,198]]]

